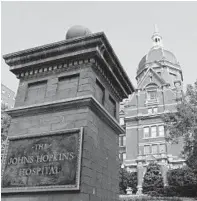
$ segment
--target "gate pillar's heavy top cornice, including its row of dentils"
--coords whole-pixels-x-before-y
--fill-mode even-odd
[[[122,98],[127,98],[134,91],[134,86],[102,32],[7,54],[3,58],[18,78],[22,73],[32,75],[35,72],[53,71],[50,65],[54,65],[55,69],[67,68],[80,59],[94,58],[102,63],[100,67],[107,77],[115,80],[114,86],[121,91]]]

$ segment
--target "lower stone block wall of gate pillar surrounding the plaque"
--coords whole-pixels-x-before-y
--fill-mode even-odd
[[[118,135],[88,107],[12,119],[9,136],[84,128],[80,193],[2,196],[2,200],[106,200],[118,195]],[[114,146],[117,144],[117,146]]]

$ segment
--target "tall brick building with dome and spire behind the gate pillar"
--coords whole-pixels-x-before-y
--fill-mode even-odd
[[[162,114],[176,110],[182,97],[182,70],[174,54],[163,48],[162,37],[155,27],[153,47],[137,69],[135,93],[121,104],[120,124],[126,135],[119,138],[119,157],[129,171],[138,171],[138,190],[141,191],[143,175],[150,161],[162,165],[164,183],[168,168],[184,164],[181,158],[181,141],[170,144]]]

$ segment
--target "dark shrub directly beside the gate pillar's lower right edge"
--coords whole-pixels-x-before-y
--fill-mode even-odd
[[[137,192],[137,172],[128,172],[126,168],[119,169],[119,191],[126,194],[127,187],[131,187],[133,193]]]

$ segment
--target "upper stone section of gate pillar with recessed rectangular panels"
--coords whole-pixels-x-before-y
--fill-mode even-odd
[[[96,74],[94,64],[79,65],[76,68],[78,70],[21,79],[15,107],[93,95],[112,116],[118,119],[119,114],[113,112],[112,104],[114,102],[115,110],[119,111],[118,98],[106,83],[105,78]],[[103,102],[100,101],[102,95],[98,85],[104,89]]]

